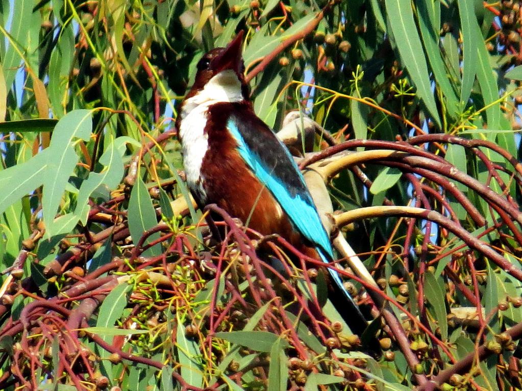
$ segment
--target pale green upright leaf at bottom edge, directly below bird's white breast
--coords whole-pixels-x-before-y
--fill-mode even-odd
[[[187,384],[201,387],[203,384],[203,367],[201,367],[201,352],[199,345],[185,335],[185,326],[178,318],[176,332],[177,355],[181,365],[181,376]]]

